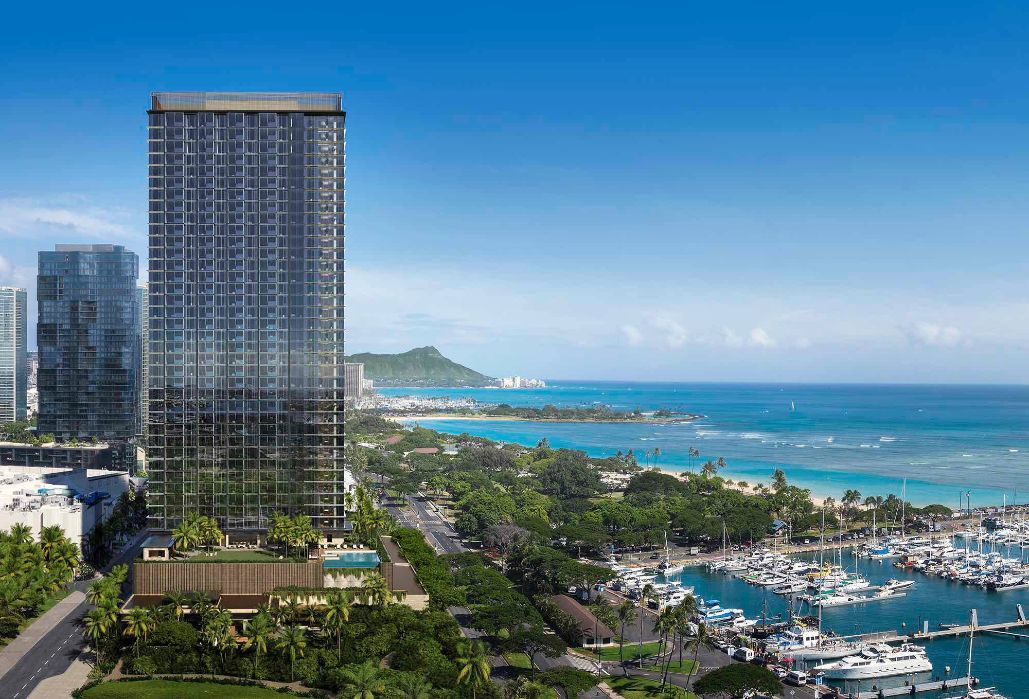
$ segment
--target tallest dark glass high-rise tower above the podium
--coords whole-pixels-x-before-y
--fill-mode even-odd
[[[344,520],[342,96],[154,93],[150,526]]]

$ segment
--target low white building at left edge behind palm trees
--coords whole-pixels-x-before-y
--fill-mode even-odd
[[[81,548],[127,491],[135,494],[126,471],[0,467],[0,529],[28,524],[39,537],[42,527],[57,524]]]

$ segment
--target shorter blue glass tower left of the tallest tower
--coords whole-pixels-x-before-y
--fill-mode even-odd
[[[40,434],[125,444],[135,438],[138,277],[139,257],[125,246],[59,245],[39,253]]]

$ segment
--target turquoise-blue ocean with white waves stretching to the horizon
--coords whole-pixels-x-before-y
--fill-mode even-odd
[[[724,457],[724,478],[771,484],[782,469],[790,483],[837,500],[848,488],[899,495],[916,506],[958,508],[1029,502],[1029,387],[547,381],[545,389],[382,389],[384,395],[469,396],[512,406],[609,405],[701,413],[689,422],[529,422],[424,420],[424,427],[609,456],[661,447],[657,465],[700,470]],[[688,447],[700,451],[690,465]],[[649,464],[654,465],[651,456]],[[1019,486],[1022,485],[1021,492]],[[964,502],[967,502],[964,501]]]

